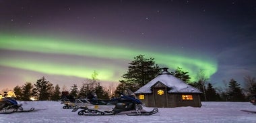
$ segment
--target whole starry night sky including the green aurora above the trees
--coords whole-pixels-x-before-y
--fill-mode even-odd
[[[118,84],[142,54],[160,68],[243,85],[256,73],[256,1],[0,0],[0,90]]]

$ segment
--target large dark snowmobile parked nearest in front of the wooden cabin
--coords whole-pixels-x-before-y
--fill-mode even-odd
[[[79,110],[78,115],[86,116],[98,116],[98,115],[115,115],[121,112],[128,112],[128,116],[139,115],[152,115],[158,112],[158,108],[154,108],[152,111],[147,112],[142,108],[142,102],[135,98],[135,95],[121,94],[120,98],[113,100],[95,100],[91,99],[90,102],[101,102],[100,104],[93,104],[86,106],[76,106],[72,112]]]

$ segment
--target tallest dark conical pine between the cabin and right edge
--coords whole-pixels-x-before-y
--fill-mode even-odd
[[[228,100],[234,102],[243,102],[245,101],[245,95],[242,93],[240,84],[235,80],[231,79],[228,84]]]

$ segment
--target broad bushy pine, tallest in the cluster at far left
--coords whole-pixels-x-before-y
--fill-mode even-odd
[[[49,100],[52,87],[53,84],[42,77],[34,84],[33,92],[38,96],[38,100]]]

